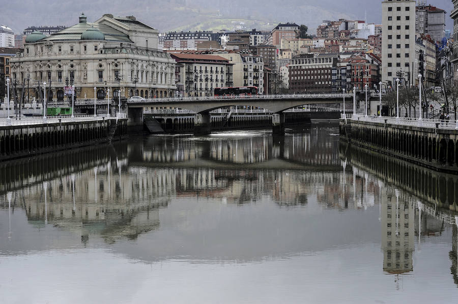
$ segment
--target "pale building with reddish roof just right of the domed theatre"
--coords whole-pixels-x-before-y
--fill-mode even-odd
[[[213,96],[214,89],[234,86],[232,63],[217,55],[171,53],[177,62],[177,87],[184,96]]]

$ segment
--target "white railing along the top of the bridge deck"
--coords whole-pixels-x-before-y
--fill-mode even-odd
[[[188,97],[162,97],[149,99],[128,99],[128,103],[164,103],[164,102],[196,102],[216,99],[314,99],[314,98],[342,98],[341,93],[318,93],[318,94],[264,94],[264,95],[224,95],[224,96],[188,96]],[[346,98],[353,97],[352,93],[346,93]],[[94,104],[94,100],[92,102]]]

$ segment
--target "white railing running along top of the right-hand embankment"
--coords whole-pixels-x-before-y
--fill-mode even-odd
[[[440,119],[418,119],[410,117],[388,117],[388,116],[364,116],[359,114],[349,114],[352,120],[389,123],[397,125],[417,126],[426,128],[439,128],[439,129],[455,129],[457,127],[456,120],[440,120]],[[343,118],[343,117],[342,117]],[[348,119],[349,117],[347,117]]]

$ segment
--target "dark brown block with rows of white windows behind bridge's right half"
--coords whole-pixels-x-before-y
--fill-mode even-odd
[[[290,92],[332,92],[332,68],[337,66],[337,59],[336,54],[294,56],[289,65]]]

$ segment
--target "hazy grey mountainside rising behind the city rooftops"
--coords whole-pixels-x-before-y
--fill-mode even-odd
[[[447,11],[453,9],[451,0],[435,0],[431,3]],[[381,1],[376,0],[137,0],[135,2],[108,0],[80,0],[56,2],[55,0],[22,0],[3,4],[1,24],[8,25],[15,33],[31,25],[73,25],[84,12],[89,21],[103,14],[134,15],[159,31],[173,29],[206,30],[221,29],[234,20],[246,22],[247,28],[272,29],[278,22],[293,21],[306,24],[314,33],[322,20],[348,18],[381,23]],[[452,29],[447,17],[447,28]],[[229,28],[230,29],[230,28]]]

